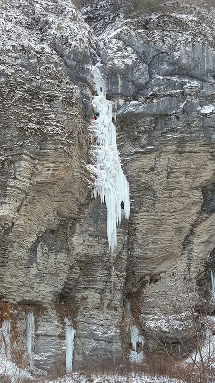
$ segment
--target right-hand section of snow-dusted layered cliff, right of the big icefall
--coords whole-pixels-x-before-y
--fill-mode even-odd
[[[192,9],[190,15],[184,7],[183,14],[119,18],[99,37],[132,201],[125,297],[133,317],[136,310],[142,313],[139,328],[150,350],[156,349],[155,343],[159,348],[167,335],[155,321],[157,339],[152,344],[148,315],[164,310],[168,322],[175,307],[178,315],[186,311],[186,298],[179,299],[187,293],[184,269],[192,282],[198,285],[201,279],[211,286],[215,248],[211,15],[213,9],[210,13]],[[131,49],[132,58],[127,60]],[[170,350],[178,338],[191,345],[185,328],[180,323],[176,327],[178,331],[166,330]]]

